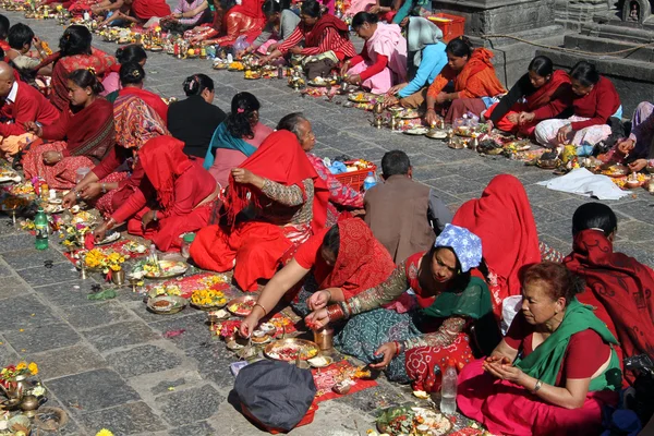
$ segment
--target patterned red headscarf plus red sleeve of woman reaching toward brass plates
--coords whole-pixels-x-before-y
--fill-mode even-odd
[[[337,226],[340,245],[334,267],[328,266],[320,254],[327,229],[302,244],[295,253],[295,261],[305,269],[314,267],[318,289],[340,288],[349,299],[386,280],[395,264],[363,220],[349,218]]]

